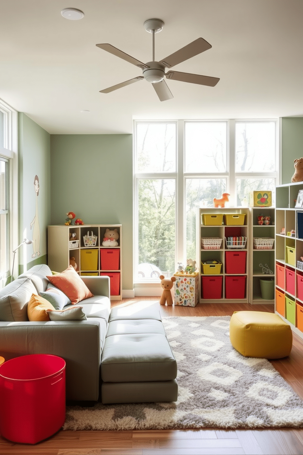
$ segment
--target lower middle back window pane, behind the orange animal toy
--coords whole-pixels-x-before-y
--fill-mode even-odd
[[[226,192],[226,178],[186,179],[186,258],[196,256],[197,207],[213,207],[214,197]]]

